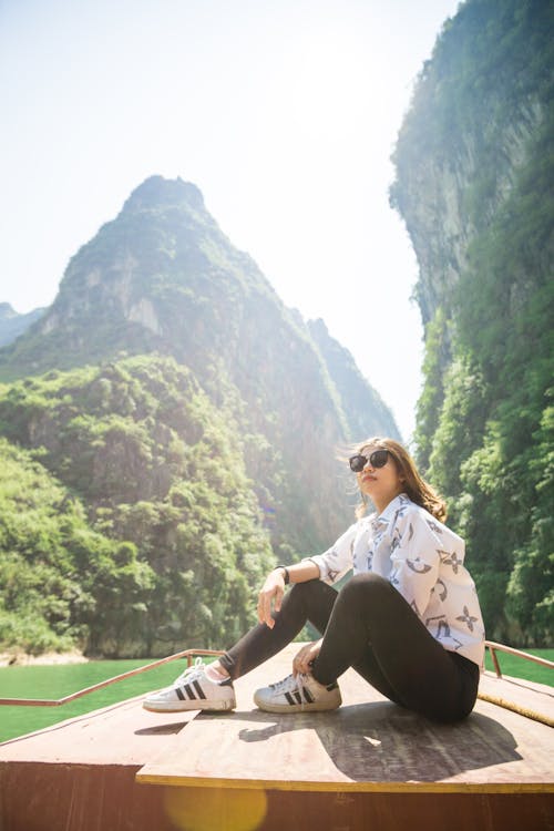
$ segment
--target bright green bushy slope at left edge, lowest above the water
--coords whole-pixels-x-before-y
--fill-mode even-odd
[[[82,646],[90,622],[100,617],[98,630],[112,640],[141,625],[154,575],[137,560],[135,546],[94,531],[79,499],[32,453],[6,439],[0,439],[0,512],[4,648],[41,653]],[[125,614],[114,619],[123,598]]]

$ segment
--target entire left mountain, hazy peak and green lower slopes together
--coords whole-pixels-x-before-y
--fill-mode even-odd
[[[52,306],[0,350],[0,378],[7,464],[21,481],[34,464],[88,529],[81,548],[69,521],[59,544],[33,548],[24,489],[0,480],[16,541],[2,554],[0,537],[0,586],[14,556],[27,575],[0,603],[0,643],[27,649],[33,632],[104,655],[228,645],[271,563],[326,548],[352,521],[347,445],[398,438],[325,324],[284,306],[195,185],[161,176],[70,260]],[[60,604],[53,575],[78,592],[68,574],[82,602]]]

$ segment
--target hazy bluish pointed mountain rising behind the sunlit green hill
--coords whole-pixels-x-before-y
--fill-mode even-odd
[[[365,398],[349,393],[353,373],[337,387],[337,369],[329,371],[308,326],[222,233],[198,188],[181,179],[148,178],[78,252],[52,306],[0,351],[0,376],[98,363],[120,352],[172,356],[212,400],[240,402],[245,431],[264,434],[283,458],[277,501],[287,536],[290,510],[305,504],[306,530],[293,532],[300,547],[324,544],[345,521],[336,448],[381,431],[398,437],[359,376]],[[307,494],[316,458],[314,501]]]

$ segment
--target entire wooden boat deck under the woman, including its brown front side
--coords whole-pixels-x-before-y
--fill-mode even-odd
[[[334,712],[259,711],[297,648],[236,681],[232,714],[134,699],[1,745],[0,829],[554,829],[553,688],[485,674],[484,696],[543,722],[480,700],[441,726],[348,670]]]

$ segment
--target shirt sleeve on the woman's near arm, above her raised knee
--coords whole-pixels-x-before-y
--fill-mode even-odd
[[[440,537],[420,514],[409,512],[398,521],[389,579],[420,617],[439,577],[441,547]]]

